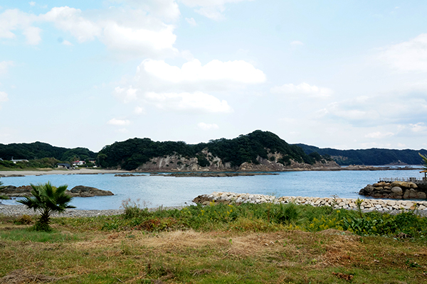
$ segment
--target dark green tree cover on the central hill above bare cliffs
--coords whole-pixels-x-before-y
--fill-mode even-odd
[[[207,149],[207,151],[203,151]],[[278,153],[272,158],[272,153]],[[166,156],[181,156],[186,160],[197,158],[201,167],[208,167],[211,163],[228,163],[232,168],[242,163],[259,163],[258,157],[274,160],[282,165],[290,164],[290,160],[297,163],[313,164],[322,157],[317,153],[307,155],[298,146],[292,146],[274,133],[268,131],[253,131],[252,133],[238,136],[233,139],[221,138],[211,140],[209,143],[195,145],[178,141],[155,142],[149,138],[133,138],[127,141],[116,142],[105,146],[100,151],[98,158],[104,168],[120,167],[134,170],[150,159]],[[270,155],[270,156],[269,156]],[[327,157],[324,157],[324,160]],[[178,160],[177,163],[183,163]]]

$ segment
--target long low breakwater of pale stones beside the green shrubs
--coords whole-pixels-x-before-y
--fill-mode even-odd
[[[208,205],[211,202],[223,204],[243,204],[243,203],[295,203],[310,204],[312,206],[330,206],[336,209],[357,209],[357,199],[339,197],[275,197],[272,195],[252,195],[248,193],[214,192],[211,195],[199,195],[193,202]],[[418,209],[423,215],[427,214],[427,201],[416,200],[363,200],[360,206],[366,211],[392,212],[402,209]]]

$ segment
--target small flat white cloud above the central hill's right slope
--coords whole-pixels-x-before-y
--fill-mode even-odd
[[[303,95],[307,97],[330,97],[333,92],[332,89],[325,87],[310,86],[307,83],[301,84],[283,84],[282,86],[272,87],[270,92],[273,94],[288,94],[288,95]]]

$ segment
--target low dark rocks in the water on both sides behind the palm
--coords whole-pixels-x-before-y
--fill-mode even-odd
[[[31,197],[33,196],[31,194],[31,190],[33,190],[33,188],[30,185],[23,185],[20,187],[9,185],[0,190],[0,195],[5,195],[7,197]],[[83,185],[73,187],[72,190],[67,190],[67,193],[71,197],[94,197],[114,195],[109,190],[98,190],[95,187],[86,187]]]

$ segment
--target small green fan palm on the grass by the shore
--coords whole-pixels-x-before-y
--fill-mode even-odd
[[[25,197],[23,200],[18,200],[28,207],[28,209],[38,210],[41,213],[40,218],[34,225],[36,231],[51,231],[51,213],[53,212],[64,212],[66,208],[75,208],[68,204],[73,197],[70,197],[65,190],[68,185],[62,185],[60,187],[54,187],[51,182],[47,182],[44,185],[32,185],[33,190],[31,194],[33,197]]]

